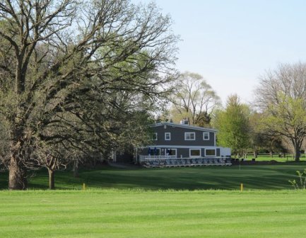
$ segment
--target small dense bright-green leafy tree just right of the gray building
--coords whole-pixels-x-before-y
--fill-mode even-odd
[[[249,110],[237,95],[229,96],[225,110],[216,113],[213,125],[218,129],[218,145],[230,147],[235,156],[249,147]]]

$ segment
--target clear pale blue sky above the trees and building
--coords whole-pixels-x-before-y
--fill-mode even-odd
[[[149,0],[139,0],[144,4]],[[306,62],[305,0],[155,0],[180,35],[176,67],[201,74],[225,103],[251,103],[259,77]]]

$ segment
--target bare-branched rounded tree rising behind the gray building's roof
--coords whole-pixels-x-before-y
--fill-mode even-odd
[[[211,112],[220,105],[216,91],[200,74],[191,72],[180,74],[170,98],[172,118],[177,121],[187,118],[191,125],[208,126]]]

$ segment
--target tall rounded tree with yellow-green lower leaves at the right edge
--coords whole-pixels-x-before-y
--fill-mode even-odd
[[[306,64],[281,64],[266,72],[257,87],[256,102],[264,113],[265,130],[290,141],[299,161],[306,136]]]

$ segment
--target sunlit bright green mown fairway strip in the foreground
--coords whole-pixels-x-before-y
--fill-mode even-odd
[[[305,191],[0,192],[0,237],[304,237]]]

